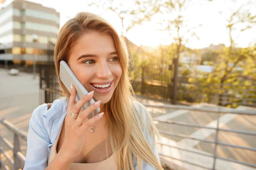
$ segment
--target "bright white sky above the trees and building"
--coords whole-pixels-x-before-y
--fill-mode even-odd
[[[60,27],[67,22],[68,19],[74,17],[78,12],[88,11],[98,14],[108,20],[113,27],[121,34],[122,22],[117,14],[102,10],[101,8],[88,7],[86,1],[82,0],[28,0],[35,3],[40,3],[43,6],[55,8],[60,12]],[[95,0],[96,1],[96,0]],[[210,44],[218,45],[220,43],[226,46],[230,45],[228,30],[226,28],[227,19],[229,18],[232,10],[239,8],[241,4],[248,0],[195,0],[194,3],[188,6],[184,16],[188,21],[190,27],[195,27],[195,33],[198,35],[199,40],[195,37],[190,37],[186,42],[189,48],[205,48]],[[256,14],[256,0],[248,10],[252,14]],[[6,0],[6,6],[12,0]],[[221,13],[220,13],[221,11]],[[166,17],[172,17],[172,14]],[[154,20],[161,20],[161,18],[154,17]],[[124,24],[125,20],[124,20]],[[202,25],[202,26],[199,26]],[[166,32],[157,31],[157,24],[152,21],[151,23],[144,23],[142,26],[132,28],[127,33],[129,40],[136,45],[157,46],[159,44],[169,45],[173,42],[173,38],[169,37]],[[174,35],[175,32],[171,32]],[[239,47],[247,47],[250,43],[256,43],[256,27],[251,28],[243,33],[234,33],[236,38],[236,45]]]

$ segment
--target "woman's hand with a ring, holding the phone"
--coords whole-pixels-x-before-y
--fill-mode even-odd
[[[65,118],[65,137],[59,152],[64,154],[68,161],[73,162],[73,160],[81,153],[84,144],[85,131],[98,122],[102,118],[103,113],[99,113],[93,118],[84,121],[90,113],[99,108],[101,101],[95,102],[86,110],[81,111],[82,106],[93,97],[93,91],[83,96],[79,102],[75,104],[76,89],[73,85],[71,86],[71,95],[67,106],[67,116]],[[75,114],[79,113],[78,117],[71,117],[71,111]]]

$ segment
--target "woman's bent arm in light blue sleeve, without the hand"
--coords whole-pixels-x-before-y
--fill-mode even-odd
[[[72,160],[67,160],[68,156],[60,150],[57,156],[48,162],[48,147],[51,144],[47,135],[47,125],[42,116],[47,111],[47,106],[41,105],[32,113],[29,120],[29,132],[27,136],[27,153],[23,170],[69,170]]]

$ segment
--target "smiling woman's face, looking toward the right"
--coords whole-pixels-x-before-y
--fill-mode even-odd
[[[113,38],[98,32],[83,34],[70,51],[68,65],[93,99],[109,102],[122,69]]]

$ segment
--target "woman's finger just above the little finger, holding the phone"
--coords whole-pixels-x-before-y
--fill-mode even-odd
[[[91,104],[87,109],[85,109],[84,111],[82,111],[77,119],[76,119],[76,122],[75,122],[75,126],[81,126],[82,125],[82,122],[84,121],[85,118],[87,118],[87,116],[92,113],[93,111],[95,111],[97,108],[99,108],[99,105],[100,105],[100,100]]]

